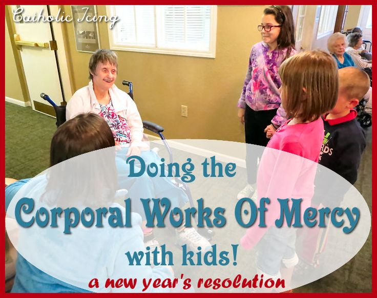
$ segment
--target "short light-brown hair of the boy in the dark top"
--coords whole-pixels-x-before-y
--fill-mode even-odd
[[[361,100],[368,92],[370,80],[368,74],[357,67],[345,67],[339,70],[339,95],[347,100]]]

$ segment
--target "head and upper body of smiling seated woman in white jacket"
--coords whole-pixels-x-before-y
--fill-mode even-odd
[[[99,114],[109,124],[115,142],[130,148],[127,155],[139,155],[143,147],[143,124],[134,101],[114,85],[117,72],[115,52],[96,51],[89,62],[91,81],[73,94],[67,105],[67,120],[79,113]]]

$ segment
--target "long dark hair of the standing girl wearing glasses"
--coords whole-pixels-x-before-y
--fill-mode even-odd
[[[282,25],[278,36],[278,48],[288,48],[285,58],[289,57],[291,50],[296,46],[295,24],[290,7],[287,5],[272,5],[267,7],[263,14],[274,15],[276,22]]]

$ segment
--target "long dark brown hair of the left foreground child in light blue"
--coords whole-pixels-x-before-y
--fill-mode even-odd
[[[59,126],[51,140],[46,176],[41,202],[49,206],[97,207],[113,202],[118,180],[115,140],[107,122],[86,113]]]

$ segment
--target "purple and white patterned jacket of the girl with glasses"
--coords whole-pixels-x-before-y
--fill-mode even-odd
[[[287,50],[287,48],[275,49],[268,52],[268,45],[264,42],[253,46],[241,97],[237,105],[243,109],[248,105],[255,111],[278,109],[276,116],[271,120],[277,126],[286,121],[285,111],[280,106],[281,80],[278,70]],[[294,54],[296,54],[296,50],[292,49],[289,56]]]

